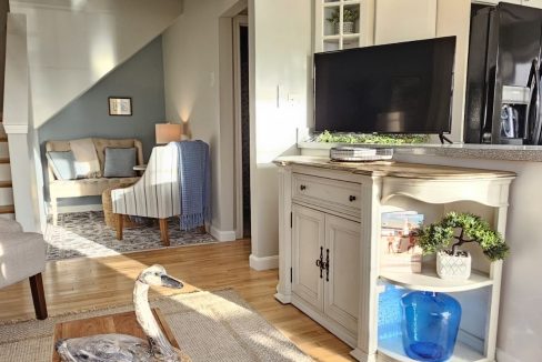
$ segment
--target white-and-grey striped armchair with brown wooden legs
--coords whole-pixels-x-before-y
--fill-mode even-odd
[[[152,149],[149,164],[133,185],[111,191],[117,239],[122,240],[122,215],[154,218],[160,221],[160,237],[169,245],[168,218],[181,213],[179,155],[174,143]]]

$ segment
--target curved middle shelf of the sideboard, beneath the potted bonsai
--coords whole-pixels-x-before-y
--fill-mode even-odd
[[[493,281],[485,274],[473,270],[471,278],[464,281],[440,279],[434,265],[422,268],[421,273],[381,272],[380,278],[395,285],[410,290],[430,292],[462,292],[492,285]]]

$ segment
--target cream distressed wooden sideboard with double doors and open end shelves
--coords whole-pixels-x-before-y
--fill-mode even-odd
[[[411,361],[401,338],[379,341],[382,283],[452,293],[463,309],[451,361],[495,360],[502,262],[472,248],[466,281],[436,276],[431,259],[419,274],[380,264],[382,212],[416,210],[425,222],[470,211],[504,234],[514,173],[394,162],[337,163],[284,157],[280,167],[280,261],[275,298],[292,303],[353,348],[359,361]],[[475,245],[474,245],[475,247]]]

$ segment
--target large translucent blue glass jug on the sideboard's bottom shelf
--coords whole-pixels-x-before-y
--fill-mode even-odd
[[[435,292],[411,292],[401,299],[403,348],[416,361],[441,362],[453,354],[461,304]]]

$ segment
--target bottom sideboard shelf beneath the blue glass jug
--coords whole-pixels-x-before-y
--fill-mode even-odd
[[[403,350],[403,341],[401,336],[379,341],[379,353],[383,353],[392,360],[401,362],[416,362],[406,356]],[[488,359],[480,352],[473,350],[469,345],[456,342],[453,349],[453,355],[448,362],[486,362]]]

